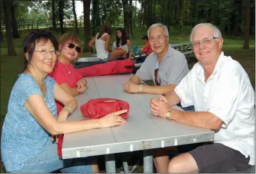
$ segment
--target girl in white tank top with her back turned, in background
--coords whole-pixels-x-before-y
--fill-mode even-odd
[[[126,58],[125,50],[112,51],[112,49],[109,48],[111,32],[111,24],[105,22],[102,24],[100,32],[89,42],[89,46],[96,48],[96,55],[102,61],[115,60],[118,57]]]

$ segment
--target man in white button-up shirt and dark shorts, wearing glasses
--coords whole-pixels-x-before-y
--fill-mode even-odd
[[[255,92],[242,66],[221,51],[221,32],[198,24],[190,40],[199,61],[165,97],[151,100],[151,112],[215,131],[213,143],[172,158],[158,157],[157,170],[170,173],[230,173],[255,165]],[[172,109],[194,105],[196,112]],[[155,159],[156,160],[156,159]],[[165,166],[166,164],[166,166]],[[168,170],[167,170],[168,168]]]

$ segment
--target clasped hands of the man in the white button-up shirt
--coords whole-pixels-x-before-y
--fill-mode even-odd
[[[151,99],[151,112],[154,116],[161,116],[166,118],[166,114],[171,108],[172,106],[170,106],[167,99],[162,95],[160,98]]]

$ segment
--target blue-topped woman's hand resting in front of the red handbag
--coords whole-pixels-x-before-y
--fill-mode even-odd
[[[117,112],[107,114],[107,116],[101,117],[100,119],[98,119],[98,124],[100,125],[100,128],[107,128],[126,123],[126,120],[120,116],[120,114],[123,114],[125,112],[127,112],[127,110],[119,110]]]

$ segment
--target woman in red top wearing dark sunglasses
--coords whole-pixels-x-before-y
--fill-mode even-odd
[[[82,75],[77,73],[70,62],[78,57],[81,52],[80,39],[75,33],[65,33],[59,39],[59,56],[55,64],[53,72],[49,75],[72,96],[76,96],[80,92],[87,89],[86,80],[82,79]],[[56,101],[57,114],[64,107],[62,103]]]

